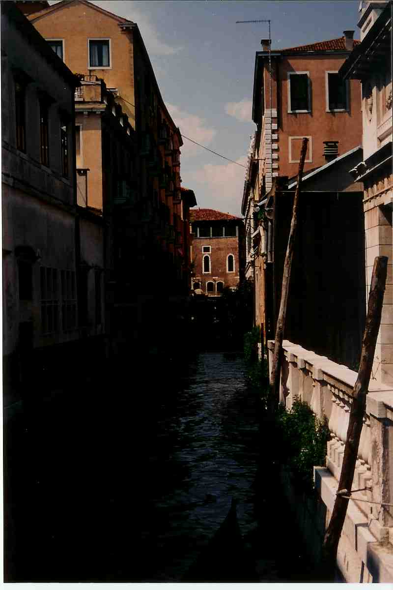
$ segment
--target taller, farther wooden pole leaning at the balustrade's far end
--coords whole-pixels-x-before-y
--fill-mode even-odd
[[[282,287],[281,287],[281,301],[280,311],[278,314],[277,326],[276,326],[276,339],[275,349],[273,355],[273,363],[270,369],[270,396],[269,396],[269,410],[270,414],[275,412],[280,401],[280,372],[281,372],[281,360],[282,360],[282,339],[285,330],[286,320],[286,304],[288,301],[289,291],[289,280],[290,280],[290,267],[292,266],[293,258],[293,247],[295,245],[296,226],[298,224],[298,205],[299,205],[299,194],[300,184],[302,182],[304,160],[306,158],[308,139],[303,137],[302,149],[300,151],[299,171],[298,171],[298,182],[296,183],[295,198],[293,199],[292,209],[292,221],[290,222],[288,247],[286,248]]]

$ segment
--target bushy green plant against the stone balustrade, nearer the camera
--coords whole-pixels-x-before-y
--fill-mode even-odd
[[[313,490],[313,467],[325,465],[330,439],[328,420],[316,418],[306,402],[296,398],[288,411],[278,412],[280,463],[289,467],[294,486],[306,493]]]

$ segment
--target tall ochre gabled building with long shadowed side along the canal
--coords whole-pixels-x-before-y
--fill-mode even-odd
[[[145,336],[148,347],[152,331],[166,331],[158,324],[168,316],[170,299],[187,296],[190,286],[189,253],[184,250],[182,231],[189,227],[190,204],[189,192],[181,191],[180,130],[161,97],[135,22],[84,0],[58,2],[28,18],[72,71],[86,81],[104,80],[134,129],[133,174],[138,183],[131,187],[127,202],[120,203],[123,196],[117,199],[114,211],[117,235],[128,241],[121,247],[123,260],[114,264],[133,268],[133,280],[126,281],[127,289],[117,296],[116,305],[120,305],[118,323],[133,326],[138,349],[143,348]],[[113,107],[114,112],[118,107]],[[84,166],[89,167],[85,158]],[[91,172],[88,178],[93,182]]]

